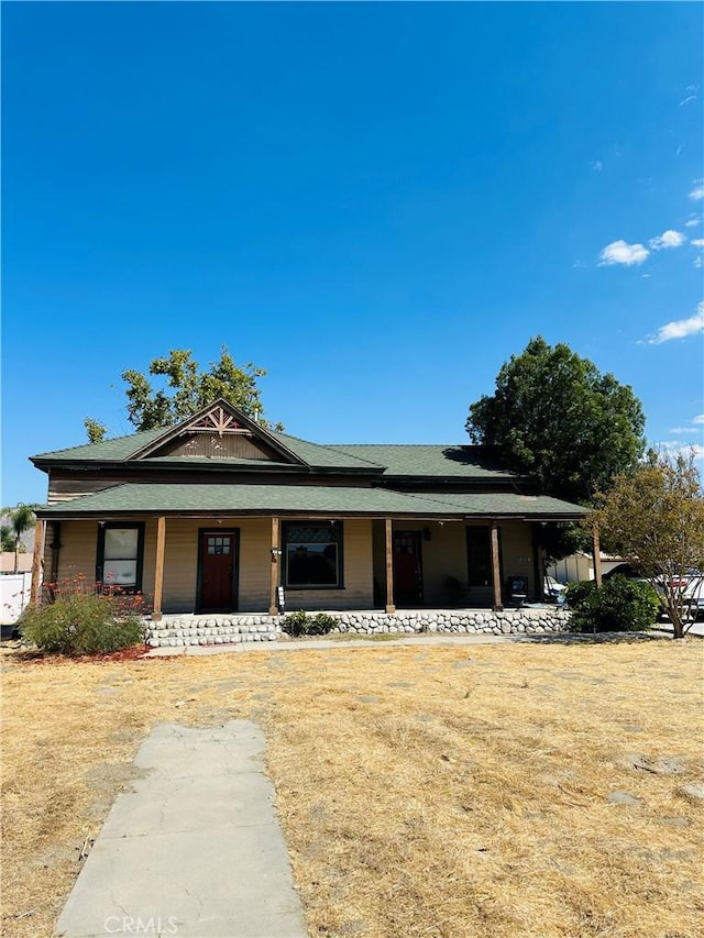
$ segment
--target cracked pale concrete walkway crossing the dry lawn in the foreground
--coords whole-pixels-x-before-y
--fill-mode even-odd
[[[66,938],[306,938],[256,724],[155,727],[62,913]]]

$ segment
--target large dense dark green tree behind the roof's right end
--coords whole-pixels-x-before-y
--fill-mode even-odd
[[[632,389],[542,336],[502,366],[496,390],[470,407],[465,426],[473,442],[498,448],[507,467],[581,504],[635,468],[646,445]]]

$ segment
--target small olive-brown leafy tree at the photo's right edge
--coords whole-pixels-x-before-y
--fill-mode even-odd
[[[602,543],[656,587],[681,638],[691,573],[704,570],[704,493],[694,453],[650,452],[635,472],[616,476],[596,503]]]

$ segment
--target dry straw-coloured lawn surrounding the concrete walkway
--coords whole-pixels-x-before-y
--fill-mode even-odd
[[[702,936],[703,809],[678,790],[704,781],[703,655],[696,639],[6,654],[3,934],[52,934],[152,726],[249,717],[311,936]]]

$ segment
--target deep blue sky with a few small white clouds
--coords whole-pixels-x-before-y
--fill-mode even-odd
[[[703,443],[695,3],[2,4],[2,504],[222,344],[318,442],[455,442],[542,334]]]

